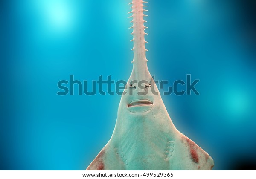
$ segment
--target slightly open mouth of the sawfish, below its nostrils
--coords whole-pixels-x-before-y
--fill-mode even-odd
[[[127,107],[128,110],[132,113],[143,113],[153,107],[153,102],[149,101],[148,99],[139,99],[131,101]]]

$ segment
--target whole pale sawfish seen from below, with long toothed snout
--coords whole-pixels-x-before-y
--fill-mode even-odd
[[[212,158],[175,128],[148,71],[143,3],[130,3],[133,69],[113,135],[87,170],[211,170]]]

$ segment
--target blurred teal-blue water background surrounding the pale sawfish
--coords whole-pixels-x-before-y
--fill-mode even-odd
[[[255,167],[255,1],[148,1],[151,75],[200,79],[201,95],[160,90],[175,126],[212,156],[214,170]],[[128,80],[128,3],[0,2],[1,170],[84,170],[108,142],[121,96],[58,96],[57,83]]]

